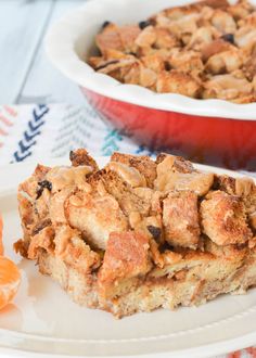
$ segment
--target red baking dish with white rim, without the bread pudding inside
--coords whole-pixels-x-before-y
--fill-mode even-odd
[[[256,170],[256,103],[154,93],[139,86],[121,85],[86,63],[105,20],[135,23],[164,8],[189,2],[149,0],[145,7],[144,1],[138,0],[88,1],[53,25],[46,41],[48,55],[81,87],[104,119],[123,132],[132,133],[140,144],[199,163]]]

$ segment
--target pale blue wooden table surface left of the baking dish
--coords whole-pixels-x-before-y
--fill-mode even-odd
[[[48,61],[43,38],[54,21],[84,2],[0,0],[0,104],[82,103],[78,87]]]

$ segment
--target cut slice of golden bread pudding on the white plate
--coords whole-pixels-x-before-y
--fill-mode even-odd
[[[15,250],[78,304],[116,317],[200,305],[256,284],[256,186],[181,157],[115,153],[99,169],[38,165],[18,188]]]

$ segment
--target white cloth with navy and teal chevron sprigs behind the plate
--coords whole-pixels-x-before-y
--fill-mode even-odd
[[[88,105],[0,106],[0,165],[67,156],[71,150],[82,146],[94,156],[114,151],[154,154],[107,127]]]

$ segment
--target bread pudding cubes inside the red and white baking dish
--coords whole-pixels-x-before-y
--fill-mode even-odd
[[[105,22],[89,64],[157,93],[256,101],[256,8],[206,0],[163,10],[139,24]]]

